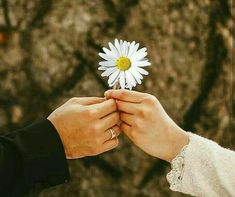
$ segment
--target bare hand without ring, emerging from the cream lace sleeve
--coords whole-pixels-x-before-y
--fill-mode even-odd
[[[188,143],[186,132],[154,96],[128,90],[108,90],[105,96],[117,99],[121,130],[149,155],[170,162]]]

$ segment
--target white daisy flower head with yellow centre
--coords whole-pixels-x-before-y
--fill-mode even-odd
[[[103,71],[102,77],[109,77],[108,84],[113,87],[119,83],[122,89],[132,89],[141,84],[142,75],[148,75],[143,67],[151,63],[146,58],[147,48],[139,49],[139,43],[115,39],[109,42],[109,49],[103,47],[104,53],[99,56],[104,61],[99,62],[98,70]]]

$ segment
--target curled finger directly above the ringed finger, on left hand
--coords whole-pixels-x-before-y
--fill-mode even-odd
[[[114,112],[102,119],[99,120],[99,124],[101,125],[101,129],[103,131],[108,130],[109,128],[115,126],[116,124],[118,124],[120,120],[120,116],[118,112]]]

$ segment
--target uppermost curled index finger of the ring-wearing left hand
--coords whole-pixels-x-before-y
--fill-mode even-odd
[[[116,111],[117,104],[114,99],[109,99],[102,103],[89,105],[89,110],[94,111],[97,118],[102,118]]]

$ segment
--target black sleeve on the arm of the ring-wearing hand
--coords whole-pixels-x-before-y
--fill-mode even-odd
[[[0,196],[24,196],[69,179],[63,144],[49,120],[0,136]]]

